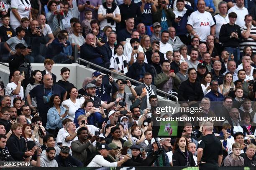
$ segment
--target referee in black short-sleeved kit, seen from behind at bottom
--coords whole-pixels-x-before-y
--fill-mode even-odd
[[[221,165],[223,150],[222,144],[212,134],[213,123],[205,122],[202,127],[202,140],[197,147],[197,165],[199,170],[218,170]]]

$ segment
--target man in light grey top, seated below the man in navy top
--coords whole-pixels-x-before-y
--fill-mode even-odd
[[[184,44],[178,36],[175,36],[176,35],[175,28],[174,27],[169,27],[168,32],[169,32],[169,35],[170,35],[168,43],[172,45],[173,51],[179,51],[179,48]]]

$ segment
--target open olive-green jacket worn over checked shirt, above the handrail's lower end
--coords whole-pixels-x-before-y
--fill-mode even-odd
[[[158,75],[156,75],[154,82],[156,87],[161,89],[164,83],[166,83],[168,80],[169,78],[167,77],[167,75],[164,72],[161,72]],[[175,92],[178,92],[179,90],[178,87],[181,83],[181,80],[179,80],[179,77],[177,75],[175,75],[175,77],[172,77],[172,80],[173,80],[173,89],[175,90]]]

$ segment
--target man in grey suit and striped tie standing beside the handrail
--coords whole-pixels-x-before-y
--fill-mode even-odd
[[[146,93],[146,95],[143,98],[141,98],[141,105],[140,105],[141,110],[149,108],[150,104],[149,104],[148,97],[150,97],[151,95],[156,95],[156,86],[151,84],[152,80],[153,80],[152,75],[149,72],[146,72],[143,77],[144,83],[135,87],[134,89],[138,95],[141,95],[142,93],[144,94]]]

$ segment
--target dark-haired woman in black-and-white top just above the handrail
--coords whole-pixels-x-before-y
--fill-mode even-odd
[[[128,58],[126,57],[126,55],[123,55],[123,45],[121,43],[115,45],[115,52],[115,55],[110,58],[109,68],[114,72],[125,75],[128,72]],[[119,75],[113,73],[112,77],[118,78]]]

